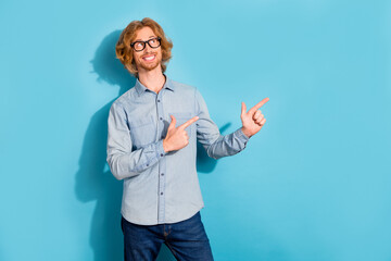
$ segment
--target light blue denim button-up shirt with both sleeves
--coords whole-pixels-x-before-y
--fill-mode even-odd
[[[189,144],[166,153],[163,139],[171,114],[176,126],[195,115],[199,120],[186,128]],[[220,135],[199,90],[168,77],[159,94],[137,80],[113,102],[108,124],[106,160],[113,175],[124,179],[121,213],[140,225],[180,222],[204,207],[195,170],[197,140],[214,159],[238,153],[249,140],[241,128]]]

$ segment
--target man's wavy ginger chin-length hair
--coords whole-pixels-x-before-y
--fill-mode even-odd
[[[161,38],[162,48],[162,72],[164,73],[169,59],[172,58],[173,42],[165,36],[163,28],[153,20],[144,17],[141,21],[135,20],[126,26],[121,33],[119,39],[115,46],[116,58],[119,59],[124,67],[127,69],[135,77],[138,76],[138,70],[133,55],[130,44],[135,40],[137,32],[143,27],[150,27],[153,33]]]

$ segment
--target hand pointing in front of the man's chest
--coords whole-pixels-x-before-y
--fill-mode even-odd
[[[167,135],[165,139],[163,139],[163,149],[165,152],[172,150],[180,150],[189,144],[189,136],[185,128],[193,124],[199,120],[198,116],[194,116],[184,123],[182,125],[175,127],[176,120],[175,116],[171,115],[172,122],[169,123]]]

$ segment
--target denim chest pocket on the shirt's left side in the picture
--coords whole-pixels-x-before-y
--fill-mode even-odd
[[[130,138],[136,149],[155,141],[156,126],[152,117],[129,121]]]

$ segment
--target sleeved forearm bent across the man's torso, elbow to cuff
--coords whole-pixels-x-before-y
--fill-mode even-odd
[[[108,146],[108,163],[118,181],[139,175],[164,157],[163,140],[150,144],[131,152],[124,152]]]

